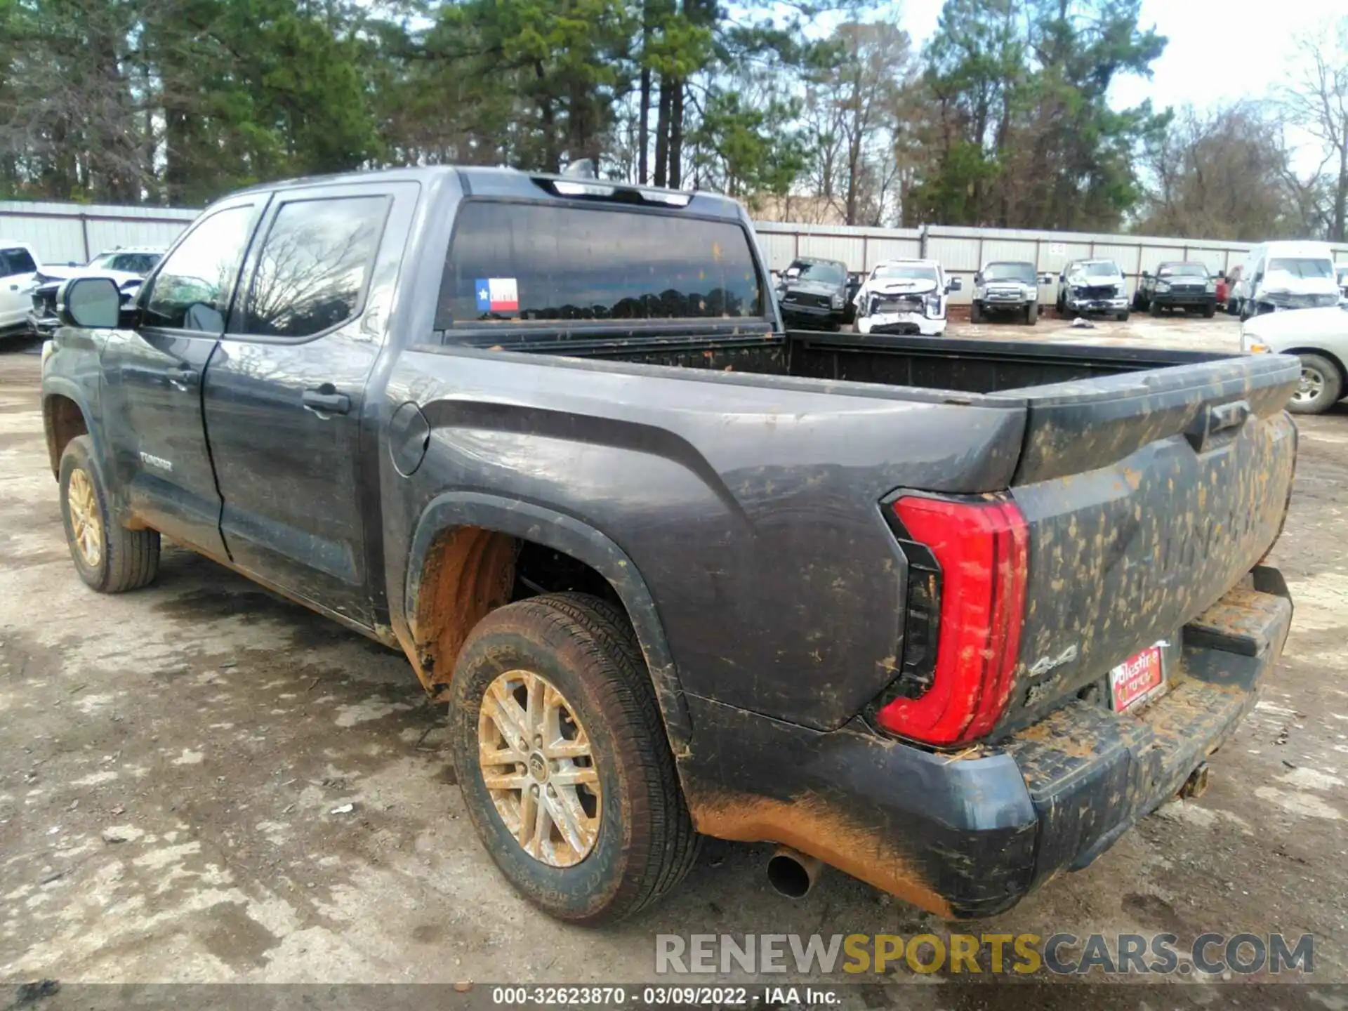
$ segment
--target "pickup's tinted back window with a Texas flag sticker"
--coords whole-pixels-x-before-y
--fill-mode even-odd
[[[763,315],[732,221],[549,204],[460,206],[435,328]]]

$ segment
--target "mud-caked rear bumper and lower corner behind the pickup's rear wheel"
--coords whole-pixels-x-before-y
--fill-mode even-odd
[[[948,918],[1010,909],[1173,797],[1254,706],[1291,623],[1281,576],[1260,572],[1278,592],[1232,590],[1186,625],[1181,670],[1142,712],[1073,701],[995,747],[934,754],[861,720],[818,733],[700,700],[681,760],[694,821]]]

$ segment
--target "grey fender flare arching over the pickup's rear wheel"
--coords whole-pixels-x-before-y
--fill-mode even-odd
[[[430,500],[417,522],[408,549],[403,621],[417,611],[421,573],[437,537],[450,527],[481,527],[562,551],[603,576],[627,611],[651,673],[670,747],[678,755],[693,736],[683,686],[674,665],[655,600],[636,565],[609,537],[543,506],[481,492],[445,492]]]

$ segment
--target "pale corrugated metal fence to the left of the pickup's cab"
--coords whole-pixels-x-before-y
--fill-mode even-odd
[[[86,263],[119,245],[168,245],[195,210],[0,201],[0,243],[27,243],[43,263]]]

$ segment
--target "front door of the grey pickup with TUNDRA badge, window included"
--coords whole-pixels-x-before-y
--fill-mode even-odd
[[[101,359],[115,487],[148,526],[217,557],[225,551],[201,377],[264,204],[255,194],[200,218],[146,283],[140,326],[109,330]]]

